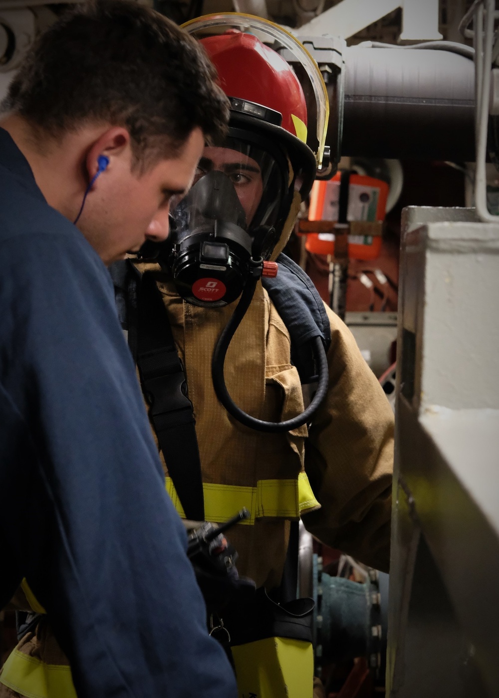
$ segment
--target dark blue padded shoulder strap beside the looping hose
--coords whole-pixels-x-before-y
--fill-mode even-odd
[[[331,325],[318,290],[304,270],[284,254],[277,262],[277,276],[262,279],[262,284],[290,333],[292,362],[301,382],[311,383],[316,376],[310,340],[321,337],[327,351]]]

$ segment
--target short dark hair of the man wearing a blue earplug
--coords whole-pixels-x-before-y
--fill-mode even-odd
[[[89,0],[38,39],[3,110],[59,137],[90,121],[125,126],[135,161],[165,156],[195,126],[225,133],[228,103],[198,44],[134,2]]]

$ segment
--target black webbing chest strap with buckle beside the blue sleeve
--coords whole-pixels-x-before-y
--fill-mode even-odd
[[[193,404],[170,320],[151,272],[142,275],[137,312],[137,366],[168,474],[187,519],[204,521],[201,462]]]

